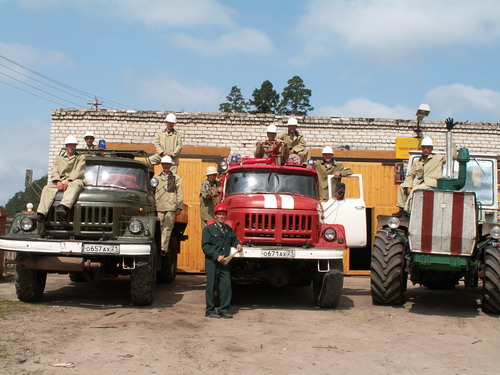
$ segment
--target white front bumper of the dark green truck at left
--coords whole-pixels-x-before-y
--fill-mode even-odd
[[[84,244],[89,245],[116,245],[118,252],[84,251]],[[103,248],[104,249],[104,248]],[[39,254],[62,254],[62,255],[114,255],[114,256],[147,256],[151,254],[151,243],[135,242],[123,243],[120,241],[70,241],[70,240],[12,240],[0,238],[0,250],[19,251]]]

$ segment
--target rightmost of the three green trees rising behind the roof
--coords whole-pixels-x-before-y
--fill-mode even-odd
[[[280,113],[306,116],[308,111],[313,111],[314,107],[309,104],[311,90],[305,88],[302,78],[293,76],[287,83],[281,93]]]

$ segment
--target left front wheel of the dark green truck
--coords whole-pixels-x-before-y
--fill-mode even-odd
[[[42,299],[47,281],[47,271],[30,270],[21,263],[24,255],[16,257],[16,294],[23,302],[37,302]]]

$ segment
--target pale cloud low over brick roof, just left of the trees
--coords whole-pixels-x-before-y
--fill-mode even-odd
[[[182,82],[179,77],[160,74],[146,78],[131,75],[125,78],[136,95],[160,104],[163,108],[179,111],[213,111],[224,95],[215,87]]]

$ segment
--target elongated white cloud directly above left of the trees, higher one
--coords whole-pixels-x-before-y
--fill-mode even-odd
[[[211,57],[233,52],[265,55],[274,50],[272,41],[265,33],[248,28],[235,29],[214,40],[178,34],[173,38],[173,42],[179,48],[191,49]]]

